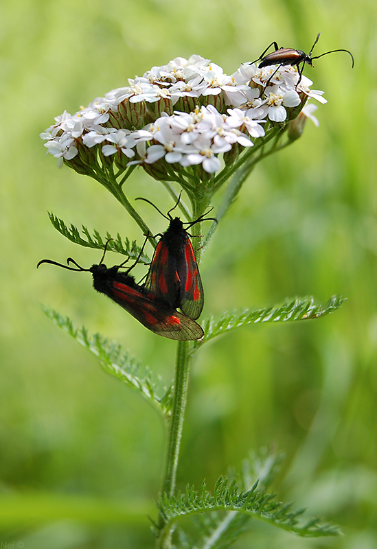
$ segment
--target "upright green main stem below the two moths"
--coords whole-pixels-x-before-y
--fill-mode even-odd
[[[191,361],[192,357],[189,342],[179,341],[176,353],[174,396],[172,416],[169,424],[165,475],[161,489],[162,493],[165,493],[168,498],[174,494],[175,490],[176,470],[178,468],[179,448],[181,446],[183,420],[187,404],[187,390]],[[161,515],[159,517],[159,529],[161,534],[157,539],[157,548],[169,549],[171,547],[172,528],[170,526],[165,526],[165,520]]]

